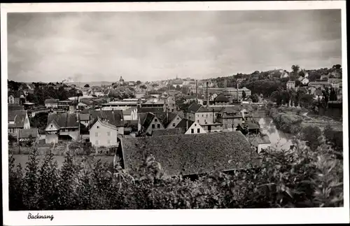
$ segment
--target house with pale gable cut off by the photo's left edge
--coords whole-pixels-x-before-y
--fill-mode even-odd
[[[17,136],[20,129],[30,129],[27,111],[8,111],[8,133]]]

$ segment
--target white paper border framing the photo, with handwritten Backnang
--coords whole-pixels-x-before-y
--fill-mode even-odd
[[[7,17],[11,12],[152,11],[152,10],[300,10],[342,9],[344,208],[339,209],[225,209],[162,211],[31,211],[54,215],[54,220],[27,220],[29,211],[8,211],[7,142]],[[349,223],[349,131],[345,1],[245,1],[168,3],[11,3],[1,4],[1,94],[3,224],[4,225],[181,225]],[[6,75],[6,76],[5,76]],[[347,183],[346,183],[347,181]]]

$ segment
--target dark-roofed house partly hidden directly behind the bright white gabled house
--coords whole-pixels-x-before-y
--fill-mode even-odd
[[[98,119],[100,119],[102,122],[111,124],[116,127],[118,134],[124,134],[124,115],[122,110],[90,111],[89,127],[92,128]],[[91,139],[92,135],[90,133],[90,142],[92,142]]]

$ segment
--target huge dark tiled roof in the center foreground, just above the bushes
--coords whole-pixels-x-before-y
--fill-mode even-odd
[[[127,137],[121,144],[125,169],[130,171],[142,164],[144,150],[168,176],[246,169],[258,163],[258,154],[241,132]]]

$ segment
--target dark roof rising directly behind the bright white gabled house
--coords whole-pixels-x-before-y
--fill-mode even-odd
[[[109,124],[114,125],[116,127],[124,126],[124,116],[122,110],[111,110],[111,111],[90,111],[92,118],[92,125],[97,121],[97,118],[101,118],[103,120],[107,120]]]

